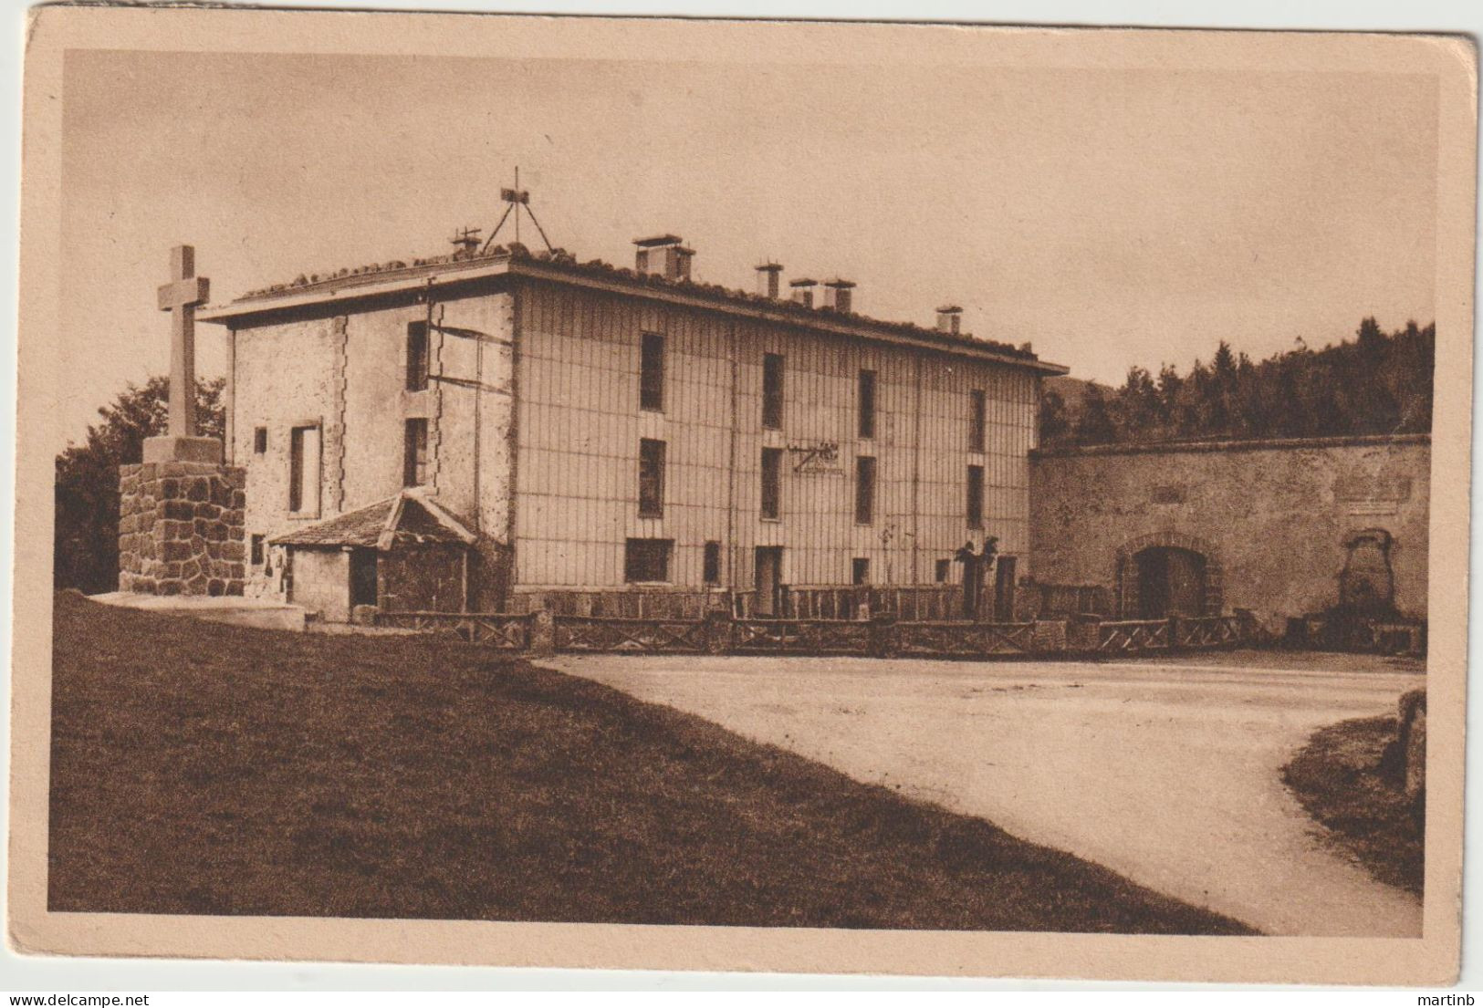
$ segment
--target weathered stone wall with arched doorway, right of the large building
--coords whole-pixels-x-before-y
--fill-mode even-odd
[[[1102,586],[1132,615],[1132,557],[1192,550],[1206,560],[1207,608],[1250,609],[1281,631],[1286,617],[1336,605],[1347,568],[1381,562],[1396,608],[1425,618],[1430,486],[1427,436],[1038,452],[1035,580]],[[1361,532],[1388,534],[1381,560],[1355,554]]]

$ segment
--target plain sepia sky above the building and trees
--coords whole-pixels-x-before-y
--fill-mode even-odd
[[[58,436],[168,371],[171,246],[214,302],[436,255],[488,234],[516,165],[581,261],[670,231],[698,280],[773,258],[881,319],[952,301],[1109,384],[1427,323],[1436,86],[1384,71],[71,50]],[[197,326],[202,375],[224,345]]]

